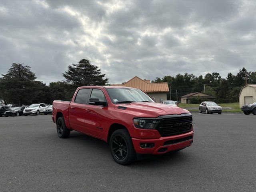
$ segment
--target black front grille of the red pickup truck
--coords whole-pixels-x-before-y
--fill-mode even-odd
[[[172,136],[190,132],[192,129],[192,115],[163,118],[157,130],[161,136]]]

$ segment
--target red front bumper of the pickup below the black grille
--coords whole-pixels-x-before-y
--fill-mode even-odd
[[[174,135],[174,136],[168,136],[168,137],[160,137],[157,139],[138,139],[138,138],[132,138],[132,142],[134,145],[134,149],[136,153],[139,154],[164,154],[170,151],[175,151],[179,149],[186,148],[190,146],[193,142],[193,136],[194,131],[190,131],[188,133],[180,134],[180,135]],[[185,141],[178,142],[179,140],[182,140],[183,138],[190,138]],[[176,143],[164,145],[165,142],[175,140]],[[141,143],[154,143],[153,148],[141,148]],[[160,150],[160,151],[159,151]]]

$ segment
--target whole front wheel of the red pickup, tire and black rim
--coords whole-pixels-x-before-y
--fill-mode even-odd
[[[128,130],[118,129],[110,137],[110,152],[113,159],[121,165],[131,164],[137,160]]]

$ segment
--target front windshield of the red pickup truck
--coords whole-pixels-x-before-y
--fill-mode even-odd
[[[112,103],[154,102],[142,90],[135,88],[106,88]]]

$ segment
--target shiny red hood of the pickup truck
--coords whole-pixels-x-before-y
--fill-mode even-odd
[[[126,109],[118,108],[120,106],[126,107]],[[171,106],[155,102],[118,104],[115,106],[115,108],[116,110],[122,110],[124,112],[134,114],[134,116],[136,117],[158,117],[160,115],[180,115],[182,113],[190,113],[188,110],[179,108],[177,106]]]

